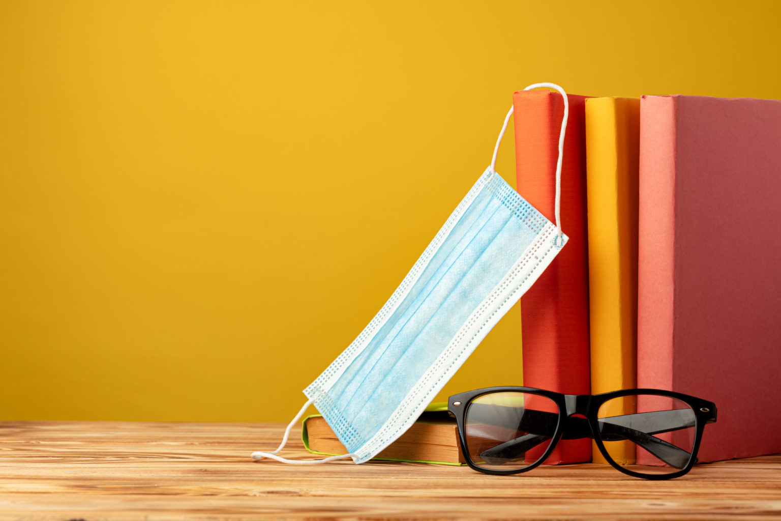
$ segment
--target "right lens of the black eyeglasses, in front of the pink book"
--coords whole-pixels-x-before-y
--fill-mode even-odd
[[[696,416],[683,401],[633,394],[604,402],[599,437],[611,459],[637,473],[678,472],[691,459]]]

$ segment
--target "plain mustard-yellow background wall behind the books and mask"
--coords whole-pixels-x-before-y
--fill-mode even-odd
[[[0,2],[0,419],[287,421],[512,91],[781,98],[781,2],[563,5]],[[519,338],[440,396],[520,384]]]

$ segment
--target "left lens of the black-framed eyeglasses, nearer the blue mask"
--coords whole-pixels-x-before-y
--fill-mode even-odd
[[[558,405],[550,398],[521,392],[483,394],[466,409],[466,448],[483,469],[523,469],[544,455],[557,425]]]

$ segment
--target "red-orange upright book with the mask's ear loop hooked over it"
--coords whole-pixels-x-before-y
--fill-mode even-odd
[[[518,191],[555,223],[558,92],[518,91],[512,98]],[[523,385],[590,394],[586,214],[586,97],[569,95],[562,162],[562,230],[569,242],[521,298]],[[591,441],[559,441],[547,464],[588,462]]]

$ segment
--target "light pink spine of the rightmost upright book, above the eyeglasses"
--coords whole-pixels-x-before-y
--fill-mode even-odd
[[[641,98],[639,203],[637,384],[672,391],[676,98]]]

